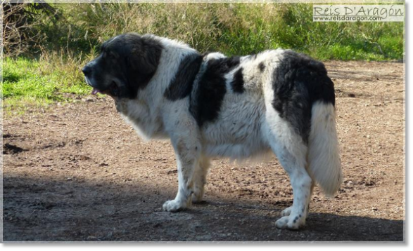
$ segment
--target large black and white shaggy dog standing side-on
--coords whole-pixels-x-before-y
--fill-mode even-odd
[[[316,183],[329,196],[341,185],[333,82],[307,55],[201,55],[178,41],[128,33],[103,43],[82,71],[92,93],[113,97],[141,137],[170,138],[179,188],[164,210],[202,200],[215,156],[276,154],[294,196],[276,222],[281,229],[305,224]]]

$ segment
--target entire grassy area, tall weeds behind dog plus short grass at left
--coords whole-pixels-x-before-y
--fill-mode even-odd
[[[247,55],[291,48],[319,60],[401,60],[401,22],[312,22],[311,4],[54,4],[39,13],[42,40],[4,61],[5,104],[49,104],[85,95],[80,67],[124,32],[152,33],[201,52]]]

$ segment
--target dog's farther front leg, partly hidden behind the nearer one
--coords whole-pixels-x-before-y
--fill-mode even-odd
[[[193,180],[193,194],[192,202],[199,203],[202,201],[204,186],[206,183],[206,176],[208,174],[208,168],[210,167],[209,158],[202,156],[199,158],[198,165],[196,165],[195,170],[192,175]]]

